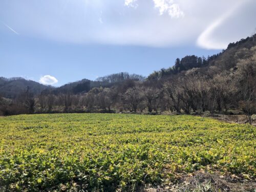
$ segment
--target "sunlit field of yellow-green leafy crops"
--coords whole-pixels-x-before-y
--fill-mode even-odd
[[[195,116],[19,115],[0,118],[0,188],[136,190],[180,174],[255,178],[254,126]]]

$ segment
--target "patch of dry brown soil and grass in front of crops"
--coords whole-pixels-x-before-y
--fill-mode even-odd
[[[166,186],[143,187],[140,192],[185,192],[185,191],[256,191],[255,179],[246,180],[234,175],[196,172],[182,176],[177,183]]]

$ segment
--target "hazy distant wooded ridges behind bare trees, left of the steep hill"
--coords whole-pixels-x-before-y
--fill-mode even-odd
[[[89,79],[82,79],[76,82],[67,83],[61,87],[54,88],[51,86],[45,86],[44,84],[40,84],[38,82],[32,80],[26,80],[21,77],[13,77],[13,78],[5,78],[0,77],[0,96],[15,99],[17,96],[26,91],[27,87],[29,87],[30,93],[33,95],[38,95],[41,92],[49,92],[51,91],[54,94],[59,93],[72,93],[72,94],[80,94],[89,92],[91,89],[95,87],[103,87],[110,88],[115,84],[121,83],[123,80],[133,79],[133,80],[143,80],[144,77],[136,74],[128,74],[128,73],[117,73],[111,74],[104,77],[99,77],[96,81],[92,81]]]

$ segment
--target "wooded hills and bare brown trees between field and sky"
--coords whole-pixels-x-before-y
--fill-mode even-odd
[[[177,58],[148,77],[118,73],[59,88],[23,78],[0,78],[0,115],[140,112],[158,114],[256,112],[256,34],[207,58]]]

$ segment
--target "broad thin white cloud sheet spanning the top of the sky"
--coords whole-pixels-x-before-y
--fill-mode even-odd
[[[224,48],[251,35],[255,10],[255,0],[0,1],[0,17],[20,35],[81,45]]]

